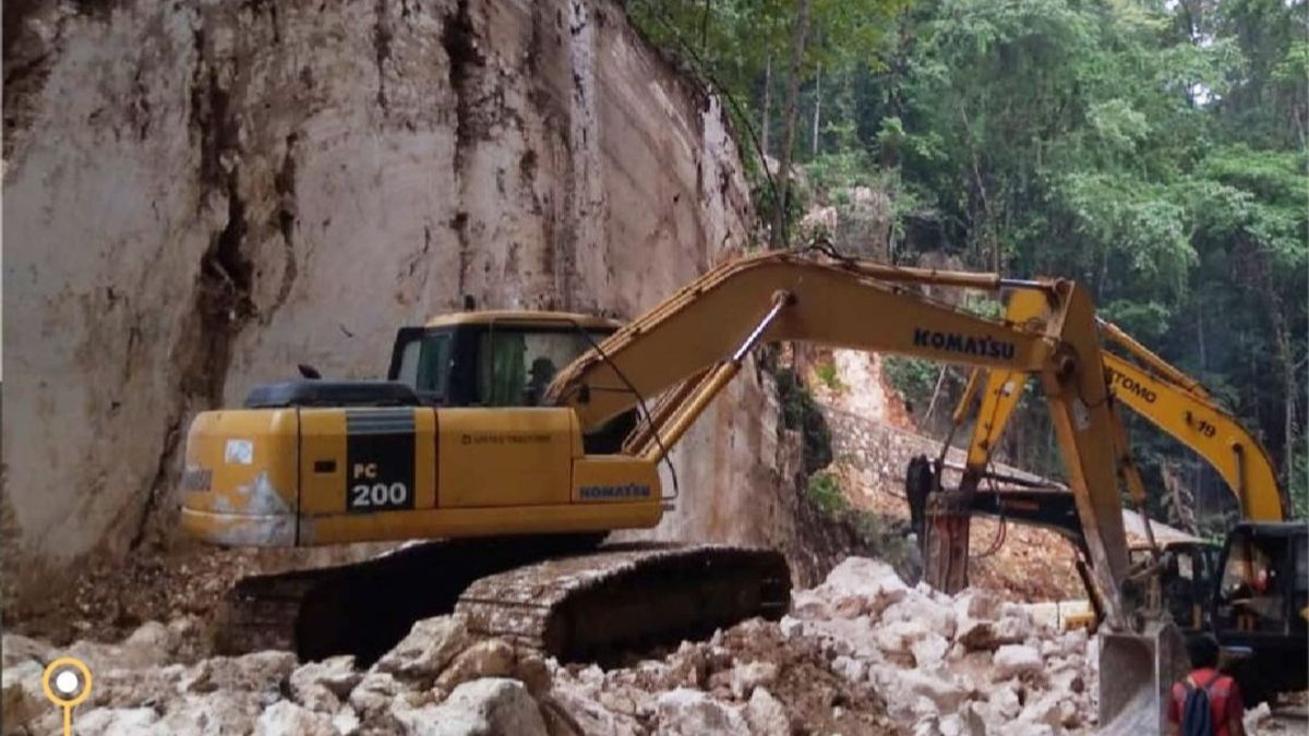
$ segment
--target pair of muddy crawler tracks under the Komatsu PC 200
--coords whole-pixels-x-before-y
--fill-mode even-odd
[[[363,665],[415,621],[459,610],[474,631],[564,661],[603,659],[762,616],[780,618],[791,574],[775,550],[609,545],[601,536],[423,542],[355,564],[246,578],[215,622],[215,648],[352,653]]]

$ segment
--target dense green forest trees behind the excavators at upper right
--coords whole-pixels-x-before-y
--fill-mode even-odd
[[[728,93],[742,149],[758,141],[776,156],[797,5],[810,31],[793,155],[812,196],[826,204],[868,185],[895,200],[888,241],[856,245],[1089,284],[1105,317],[1255,430],[1302,515],[1306,1],[668,0],[631,10]],[[920,367],[899,373],[941,384]],[[1031,403],[1009,454],[1058,474]],[[1132,436],[1157,487],[1181,477],[1198,488],[1202,523],[1220,511],[1217,478],[1185,449],[1140,420]]]

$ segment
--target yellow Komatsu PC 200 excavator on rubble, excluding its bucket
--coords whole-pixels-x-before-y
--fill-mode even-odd
[[[1047,312],[983,318],[919,285],[1030,295]],[[1144,640],[1134,667],[1179,667],[1175,629],[1143,622],[1122,592],[1130,555],[1086,289],[763,253],[615,327],[560,313],[442,317],[399,331],[387,381],[275,384],[242,409],[198,415],[182,478],[192,536],[445,540],[246,580],[229,600],[233,646],[313,657],[347,642],[376,656],[415,618],[454,608],[475,630],[569,660],[780,617],[789,572],[775,551],[594,547],[607,532],[658,524],[672,500],[658,464],[757,344],[792,340],[1039,376],[1106,625]],[[1153,681],[1143,674],[1114,677]]]

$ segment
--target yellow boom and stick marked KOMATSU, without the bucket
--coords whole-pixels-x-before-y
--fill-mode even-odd
[[[931,301],[914,284],[1017,289],[1049,304],[1043,320],[987,320]],[[768,253],[732,261],[681,289],[568,365],[547,401],[571,406],[584,430],[668,394],[648,419],[657,460],[740,371],[759,342],[812,342],[1037,375],[1058,430],[1096,585],[1115,629],[1127,625],[1119,588],[1128,575],[1109,390],[1094,309],[1063,280],[818,262]],[[1089,369],[1088,369],[1089,367]],[[641,432],[639,428],[637,432]]]

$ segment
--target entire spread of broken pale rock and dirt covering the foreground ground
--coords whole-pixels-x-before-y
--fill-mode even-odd
[[[1084,633],[1054,633],[984,592],[908,587],[864,558],[796,591],[780,622],[607,669],[475,636],[459,616],[416,623],[367,669],[350,656],[206,657],[200,629],[151,622],[118,644],[60,650],[5,635],[4,733],[60,731],[41,673],[62,655],[94,673],[76,715],[84,736],[1038,735],[1089,731],[1094,706]]]

